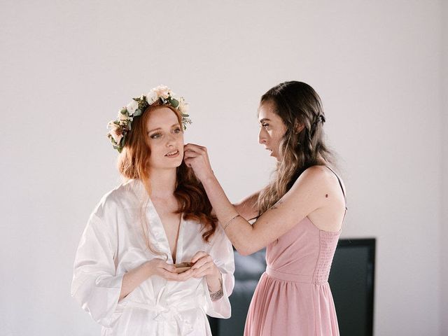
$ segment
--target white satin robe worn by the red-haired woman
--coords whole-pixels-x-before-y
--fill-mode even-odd
[[[106,194],[97,205],[80,239],[74,262],[71,295],[102,325],[102,336],[211,335],[207,316],[230,317],[235,264],[230,241],[220,225],[210,243],[202,239],[202,226],[181,220],[176,262],[189,262],[197,251],[211,255],[223,274],[223,297],[212,302],[204,278],[166,281],[151,276],[118,302],[123,274],[153,258],[144,243],[141,218],[143,184],[131,180]],[[172,253],[153,203],[147,205],[153,246]]]

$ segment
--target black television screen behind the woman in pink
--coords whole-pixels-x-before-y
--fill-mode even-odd
[[[374,260],[375,239],[339,239],[328,282],[341,336],[373,335]],[[246,257],[235,251],[232,317],[209,318],[214,336],[243,335],[248,306],[265,267],[265,250]]]

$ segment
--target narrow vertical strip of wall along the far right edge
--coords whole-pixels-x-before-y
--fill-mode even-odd
[[[448,335],[448,1],[442,1],[442,109],[441,109],[441,135],[442,135],[442,208],[440,221],[440,265],[441,290],[440,293],[440,321],[441,335]]]

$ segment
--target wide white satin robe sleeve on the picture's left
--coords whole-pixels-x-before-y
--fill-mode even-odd
[[[117,306],[124,274],[116,274],[116,229],[105,222],[95,213],[90,216],[76,251],[71,296],[94,321],[111,327],[121,314]]]

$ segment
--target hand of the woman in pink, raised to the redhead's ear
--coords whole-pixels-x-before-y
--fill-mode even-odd
[[[207,148],[195,144],[186,144],[183,146],[183,160],[188,167],[193,168],[197,179],[202,183],[213,176]]]

